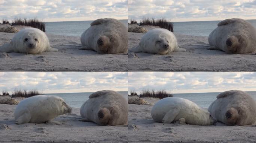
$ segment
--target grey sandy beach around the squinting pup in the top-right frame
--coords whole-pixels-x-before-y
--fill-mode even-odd
[[[137,47],[143,33],[129,32],[128,48]],[[180,48],[186,52],[169,55],[128,53],[129,71],[255,71],[256,55],[226,54],[207,50],[207,36],[190,36],[175,33]]]

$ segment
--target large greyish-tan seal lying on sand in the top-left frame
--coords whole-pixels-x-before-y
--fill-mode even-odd
[[[113,18],[97,19],[81,36],[83,48],[100,54],[127,53],[128,28]]]

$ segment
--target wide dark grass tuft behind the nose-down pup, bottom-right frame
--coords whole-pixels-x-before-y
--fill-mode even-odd
[[[153,97],[163,99],[166,97],[173,97],[172,93],[167,92],[166,90],[142,90],[140,92],[140,97]]]

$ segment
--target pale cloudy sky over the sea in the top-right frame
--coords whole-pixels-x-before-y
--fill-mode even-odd
[[[256,19],[256,0],[129,0],[128,18],[167,18],[173,22],[227,18]]]

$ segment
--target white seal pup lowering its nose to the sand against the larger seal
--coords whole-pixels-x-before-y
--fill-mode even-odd
[[[198,107],[188,99],[167,97],[159,100],[151,110],[154,121],[159,123],[174,123],[193,125],[213,125],[216,120],[205,109]]]

